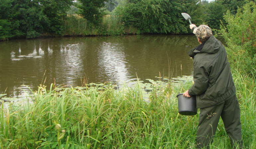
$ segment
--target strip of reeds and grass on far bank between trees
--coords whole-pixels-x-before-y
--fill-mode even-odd
[[[136,34],[135,27],[125,27],[120,18],[107,15],[102,23],[95,27],[78,15],[68,15],[64,25],[64,35],[99,36]]]

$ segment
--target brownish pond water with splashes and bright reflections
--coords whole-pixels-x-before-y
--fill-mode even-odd
[[[19,96],[40,84],[82,86],[136,78],[192,75],[194,35],[125,35],[0,42],[0,94]],[[182,68],[182,69],[181,69]],[[84,79],[85,78],[85,79]],[[24,86],[26,85],[26,86]],[[17,89],[21,88],[21,89]]]

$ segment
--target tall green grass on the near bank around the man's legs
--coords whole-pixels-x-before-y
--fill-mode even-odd
[[[256,148],[255,78],[234,71],[245,148]],[[192,81],[154,84],[144,99],[141,83],[76,88],[44,86],[25,104],[0,109],[1,148],[195,148],[198,114],[178,114],[176,95]],[[32,102],[31,102],[32,101]],[[56,124],[60,124],[57,126]],[[59,128],[61,126],[61,128]],[[63,137],[63,138],[62,138]],[[210,148],[230,148],[222,122]]]

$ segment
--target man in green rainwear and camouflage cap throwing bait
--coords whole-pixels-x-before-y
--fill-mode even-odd
[[[209,147],[221,117],[231,147],[242,148],[240,108],[225,48],[208,26],[191,24],[190,28],[200,45],[188,52],[193,58],[194,84],[183,96],[196,95],[200,109],[196,147]]]

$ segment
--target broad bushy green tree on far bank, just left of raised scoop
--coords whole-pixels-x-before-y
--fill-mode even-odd
[[[125,5],[118,6],[115,13],[122,16],[126,26],[138,27],[138,32],[141,33],[181,33],[185,30],[185,26],[178,25],[182,18],[171,15],[177,16],[183,7],[173,3],[171,5],[169,0],[130,0]]]

